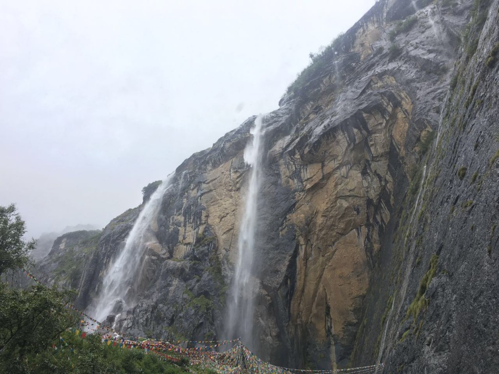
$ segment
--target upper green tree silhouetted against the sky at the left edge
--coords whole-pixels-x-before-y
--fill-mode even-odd
[[[0,275],[7,270],[20,269],[28,263],[28,255],[34,249],[36,241],[25,242],[24,221],[16,212],[14,204],[0,206]]]

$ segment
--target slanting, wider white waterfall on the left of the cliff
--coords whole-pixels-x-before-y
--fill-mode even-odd
[[[155,240],[155,236],[150,235],[150,227],[157,219],[163,195],[170,187],[172,176],[173,174],[168,176],[145,203],[128,234],[125,247],[109,266],[99,297],[93,306],[93,315],[98,321],[104,321],[110,314],[119,314],[136,304],[145,250],[147,244]]]

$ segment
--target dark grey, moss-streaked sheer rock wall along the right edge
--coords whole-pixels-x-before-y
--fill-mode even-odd
[[[380,357],[388,372],[499,367],[499,1],[471,11],[426,173],[366,298],[356,357]]]

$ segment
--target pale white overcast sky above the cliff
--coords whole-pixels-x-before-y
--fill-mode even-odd
[[[0,0],[0,205],[30,236],[104,226],[374,2]]]

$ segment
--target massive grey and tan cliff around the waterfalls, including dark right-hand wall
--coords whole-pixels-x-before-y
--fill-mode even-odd
[[[380,357],[391,370],[437,372],[471,334],[461,318],[473,303],[483,314],[497,308],[497,67],[483,61],[497,42],[497,1],[484,31],[486,7],[475,3],[378,1],[265,117],[253,347],[262,359],[327,368]],[[225,338],[253,122],[177,168],[147,235],[142,301],[121,313],[119,329]],[[99,292],[141,207],[114,219],[82,258],[71,280],[80,307]],[[493,317],[473,318],[486,328]]]

